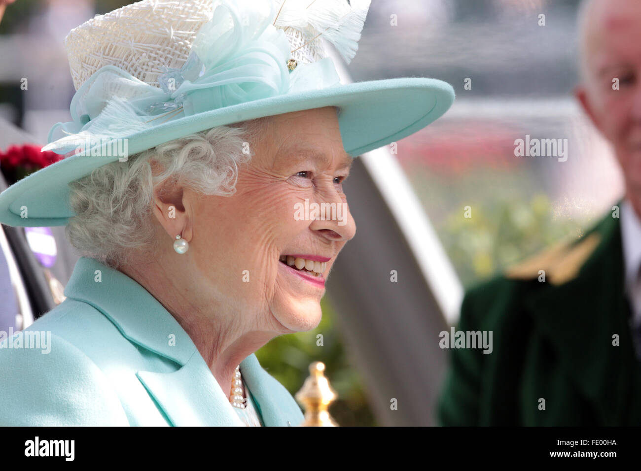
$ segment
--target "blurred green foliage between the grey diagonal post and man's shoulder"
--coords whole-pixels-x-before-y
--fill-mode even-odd
[[[557,213],[528,167],[475,167],[443,175],[424,165],[406,173],[463,286],[469,287],[564,238],[588,218]],[[465,208],[471,217],[465,217]]]

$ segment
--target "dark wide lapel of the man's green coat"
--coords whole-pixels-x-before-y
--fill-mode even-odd
[[[578,276],[535,290],[525,305],[538,331],[551,341],[558,361],[608,425],[620,417],[620,393],[630,390],[638,365],[624,296],[619,219],[608,215],[588,235],[599,236],[601,242]],[[613,345],[615,334],[619,346]]]

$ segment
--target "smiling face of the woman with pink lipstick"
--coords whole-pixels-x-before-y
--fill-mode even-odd
[[[343,193],[351,158],[332,107],[274,116],[254,146],[234,195],[197,200],[189,252],[201,288],[253,329],[310,330],[325,279],[356,232]]]

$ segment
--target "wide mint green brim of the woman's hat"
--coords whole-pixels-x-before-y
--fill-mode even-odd
[[[114,137],[126,138],[128,154],[133,155],[215,126],[338,106],[345,152],[358,156],[428,126],[453,101],[454,89],[437,79],[363,81],[241,103],[168,121],[131,136]],[[65,226],[74,214],[69,208],[68,184],[117,160],[117,155],[76,154],[38,170],[0,194],[0,222],[10,226]],[[23,209],[26,217],[21,217]]]

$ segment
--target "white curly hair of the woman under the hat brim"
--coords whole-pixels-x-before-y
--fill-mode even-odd
[[[154,187],[175,180],[205,195],[233,194],[238,166],[251,159],[268,122],[265,117],[183,136],[70,183],[74,216],[67,239],[81,256],[115,269],[138,249],[153,256],[161,240],[153,220]],[[152,160],[160,173],[153,174]]]

